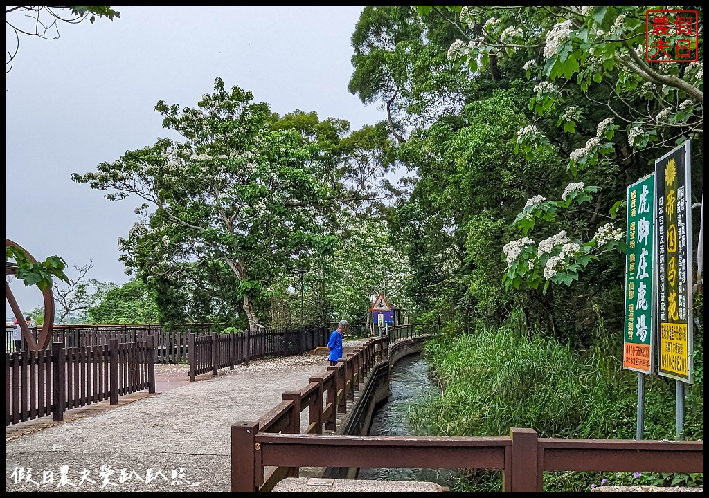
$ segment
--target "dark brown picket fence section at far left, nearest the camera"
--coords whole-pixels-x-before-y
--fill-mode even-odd
[[[155,392],[155,346],[143,342],[5,353],[5,425],[53,415],[130,392]]]

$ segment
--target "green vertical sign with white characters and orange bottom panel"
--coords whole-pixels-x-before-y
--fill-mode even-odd
[[[652,373],[654,370],[657,285],[654,202],[654,174],[627,188],[623,368],[642,373]]]

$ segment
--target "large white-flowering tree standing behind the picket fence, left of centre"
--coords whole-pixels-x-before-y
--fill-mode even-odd
[[[332,250],[337,235],[323,227],[323,213],[363,205],[381,178],[376,162],[365,159],[333,176],[305,131],[307,115],[284,125],[252,99],[216,79],[196,108],[161,101],[155,109],[164,127],[184,141],[164,138],[95,173],[72,175],[112,191],[108,200],[132,194],[143,201],[135,208],[140,221],[118,244],[127,273],[136,271],[155,292],[164,322],[233,318],[240,302],[255,329],[259,305],[267,307],[279,280]],[[362,169],[364,182],[353,168]]]

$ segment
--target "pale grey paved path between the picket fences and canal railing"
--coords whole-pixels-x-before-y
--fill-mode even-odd
[[[363,342],[345,341],[345,354]],[[232,424],[259,419],[284,391],[305,387],[327,367],[324,354],[304,353],[252,361],[189,383],[173,366],[172,383],[169,375],[159,378],[154,395],[70,410],[61,423],[45,417],[9,426],[5,490],[230,492]]]

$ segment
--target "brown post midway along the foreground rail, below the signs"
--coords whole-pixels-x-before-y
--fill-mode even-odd
[[[503,492],[542,492],[537,453],[537,431],[534,429],[510,429],[512,439],[512,463],[510,472],[503,472]],[[507,469],[506,469],[507,470]],[[508,487],[509,485],[509,487]]]

